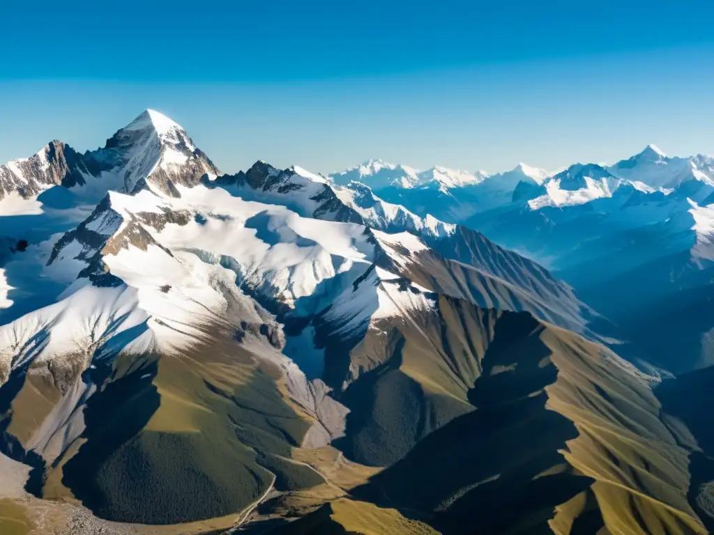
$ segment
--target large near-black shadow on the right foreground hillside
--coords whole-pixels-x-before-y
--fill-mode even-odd
[[[550,533],[555,506],[593,480],[574,475],[559,452],[578,431],[545,407],[544,388],[558,370],[540,340],[543,328],[527,313],[504,314],[469,392],[476,410],[429,434],[353,494],[429,515],[444,534]]]

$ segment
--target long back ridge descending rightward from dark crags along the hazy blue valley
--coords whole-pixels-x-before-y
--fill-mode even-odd
[[[474,273],[473,276],[485,275],[490,284],[496,286],[491,297],[482,302],[483,305],[489,306],[489,299],[498,302],[499,298],[508,294],[511,297],[503,297],[503,303],[510,302],[510,305],[505,306],[515,310],[522,310],[521,307],[525,306],[523,310],[531,310],[538,317],[578,331],[596,317],[566,285],[555,280],[539,265],[499,248],[466,227],[448,225],[429,216],[420,218],[400,205],[387,203],[364,185],[334,186],[322,177],[299,168],[281,171],[262,162],[253,165],[246,173],[225,175],[206,185],[209,188],[220,186],[243,199],[286,205],[305,218],[362,223],[389,233],[406,230],[418,235],[423,243],[443,258],[477,267],[482,275]],[[456,264],[449,265],[453,267],[448,267],[448,271],[461,270]],[[463,295],[458,283],[451,283],[451,286],[450,295]],[[516,290],[516,294],[525,292],[524,302],[539,304],[522,305],[519,297],[513,297],[512,290]],[[502,294],[502,291],[506,293]],[[486,295],[485,292],[479,295],[482,294]],[[551,307],[557,313],[545,314],[544,311]]]

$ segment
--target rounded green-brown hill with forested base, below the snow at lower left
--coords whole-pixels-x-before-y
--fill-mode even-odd
[[[289,460],[310,423],[281,394],[279,370],[237,342],[120,355],[87,375],[100,386],[84,407],[84,432],[46,467],[46,479],[66,487],[55,485],[54,498],[71,493],[114,521],[177,524],[238,514],[273,484],[323,483]],[[17,381],[18,392],[26,387]]]

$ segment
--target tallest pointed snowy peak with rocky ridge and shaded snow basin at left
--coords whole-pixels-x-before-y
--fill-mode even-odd
[[[0,320],[9,322],[49,304],[74,280],[76,271],[46,270],[44,265],[56,240],[87,218],[108,191],[149,188],[174,195],[175,185],[195,184],[218,170],[183,128],[147,110],[104,148],[81,154],[54,141],[27,161],[0,168],[1,173],[12,178],[0,181],[0,213],[5,215],[0,237],[6,244],[0,253],[0,291],[9,305],[0,311]],[[41,288],[25,291],[36,285]]]

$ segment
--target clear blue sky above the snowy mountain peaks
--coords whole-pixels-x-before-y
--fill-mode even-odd
[[[144,108],[226,171],[714,153],[708,0],[101,4],[1,2],[0,161]]]

